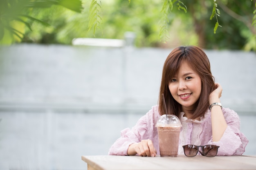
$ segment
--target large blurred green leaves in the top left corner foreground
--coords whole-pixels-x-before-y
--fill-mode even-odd
[[[31,24],[38,22],[50,26],[46,20],[40,20],[31,13],[38,11],[49,16],[44,10],[52,6],[61,6],[76,12],[82,11],[80,0],[1,0],[0,1],[0,44],[20,42],[25,37],[25,29],[32,31]]]

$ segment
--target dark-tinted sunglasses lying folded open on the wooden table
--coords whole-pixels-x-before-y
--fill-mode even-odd
[[[205,145],[205,146],[184,145],[182,147],[184,149],[184,154],[187,157],[194,157],[195,155],[198,154],[198,151],[203,156],[215,157],[217,155],[218,148],[220,146],[216,146],[216,145]],[[200,151],[199,148],[202,148],[202,151]]]

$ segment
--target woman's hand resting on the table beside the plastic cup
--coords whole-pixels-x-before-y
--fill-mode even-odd
[[[136,155],[142,157],[155,157],[157,154],[153,142],[150,139],[142,140],[139,143],[131,144],[127,151],[128,155]]]

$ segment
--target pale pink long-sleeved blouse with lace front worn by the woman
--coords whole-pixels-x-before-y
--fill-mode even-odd
[[[182,112],[180,116],[182,128],[180,130],[178,155],[184,155],[182,146],[186,144],[198,146],[207,144],[218,145],[220,146],[218,156],[243,154],[248,140],[245,135],[240,132],[240,118],[234,110],[229,108],[222,108],[222,112],[228,126],[218,142],[212,141],[210,110],[207,110],[204,118],[201,117],[200,121],[187,119]],[[153,106],[146,115],[139,119],[132,129],[126,128],[121,131],[121,137],[110,147],[108,154],[127,155],[128,147],[131,144],[144,139],[150,139],[157,150],[157,155],[159,155],[158,134],[157,128],[155,127],[159,117],[158,106]]]

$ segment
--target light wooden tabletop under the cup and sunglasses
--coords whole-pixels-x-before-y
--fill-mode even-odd
[[[82,156],[88,170],[256,170],[256,155],[227,157]]]

